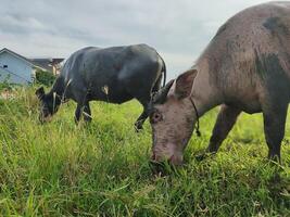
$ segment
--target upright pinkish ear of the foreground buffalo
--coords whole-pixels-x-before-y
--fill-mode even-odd
[[[190,95],[197,74],[197,69],[189,69],[176,78],[174,94],[178,99],[184,99]]]

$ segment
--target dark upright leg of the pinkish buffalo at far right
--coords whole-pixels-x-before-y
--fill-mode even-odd
[[[281,141],[285,136],[287,103],[275,104],[263,110],[265,139],[268,145],[268,158],[280,162]]]

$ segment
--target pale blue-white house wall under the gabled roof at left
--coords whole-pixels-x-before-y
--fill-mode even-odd
[[[0,71],[0,81],[5,79],[5,72],[11,72],[10,82],[26,84],[27,81],[33,81],[33,66],[25,60],[16,58],[9,52],[3,52],[0,53],[0,66],[4,67],[4,65],[8,67],[4,68],[7,71]]]

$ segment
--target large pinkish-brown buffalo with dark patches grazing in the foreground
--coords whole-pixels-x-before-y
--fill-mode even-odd
[[[196,64],[153,98],[153,159],[181,164],[199,117],[222,105],[209,152],[217,152],[241,112],[262,112],[268,157],[280,161],[289,101],[290,2],[249,8],[228,20]]]

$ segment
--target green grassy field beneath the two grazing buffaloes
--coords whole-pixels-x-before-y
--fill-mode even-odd
[[[242,114],[217,155],[207,145],[217,110],[201,119],[186,165],[152,174],[151,129],[135,133],[141,106],[93,102],[91,125],[75,104],[40,125],[34,89],[0,100],[0,216],[290,216],[290,122],[282,165],[265,159],[261,115]]]

